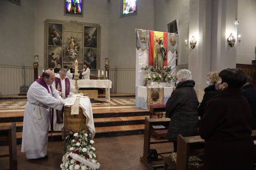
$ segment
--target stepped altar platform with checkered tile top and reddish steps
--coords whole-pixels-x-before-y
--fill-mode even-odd
[[[126,97],[117,98],[115,95]],[[92,103],[95,138],[144,133],[144,120],[145,116],[149,117],[149,110],[136,106],[133,96],[134,94],[116,93],[111,94],[110,101],[103,98],[95,99],[95,103]],[[17,100],[15,95],[11,97],[12,100],[0,100],[0,125],[16,122],[17,143],[21,143],[24,108],[27,100]],[[48,139],[49,141],[61,141],[61,132],[49,133]]]

